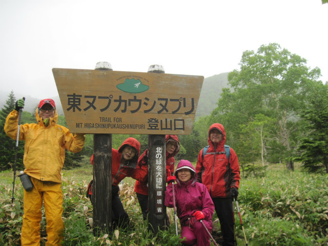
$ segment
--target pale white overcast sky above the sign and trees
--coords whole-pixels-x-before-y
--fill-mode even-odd
[[[328,80],[321,0],[0,0],[2,91],[57,96],[52,68],[202,75],[239,69],[242,52],[278,43]]]

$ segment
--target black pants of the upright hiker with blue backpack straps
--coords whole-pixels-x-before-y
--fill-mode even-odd
[[[232,198],[212,198],[212,200],[221,225],[221,232],[224,241],[223,245],[234,246],[235,236]]]

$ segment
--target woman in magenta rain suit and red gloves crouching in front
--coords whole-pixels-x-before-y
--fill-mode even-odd
[[[181,225],[181,238],[184,245],[210,246],[210,235],[202,226],[201,220],[209,232],[212,231],[214,204],[202,183],[197,182],[194,167],[188,160],[180,160],[175,176],[168,177],[169,182],[176,180],[174,194],[177,216]],[[173,186],[170,182],[165,192],[165,206],[173,208]]]

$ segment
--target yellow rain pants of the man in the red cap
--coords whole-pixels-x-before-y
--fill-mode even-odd
[[[24,215],[22,227],[22,246],[40,245],[40,221],[42,219],[42,202],[44,202],[47,221],[46,246],[61,245],[64,222],[63,192],[61,183],[40,181],[31,177],[32,191],[24,190]]]

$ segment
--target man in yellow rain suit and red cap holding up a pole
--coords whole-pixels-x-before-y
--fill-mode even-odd
[[[6,118],[5,132],[17,138],[18,111],[24,108],[24,100],[16,101],[15,109]],[[64,222],[61,168],[65,149],[76,153],[82,150],[85,135],[57,125],[58,115],[53,99],[43,99],[35,110],[37,124],[20,125],[19,140],[25,140],[24,173],[33,183],[31,191],[24,190],[24,215],[22,245],[40,245],[40,221],[44,202],[47,220],[46,245],[61,245]]]

